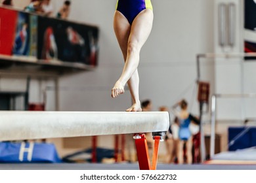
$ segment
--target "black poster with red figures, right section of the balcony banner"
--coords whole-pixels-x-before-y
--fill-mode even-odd
[[[38,59],[97,65],[96,27],[39,16],[37,34]]]

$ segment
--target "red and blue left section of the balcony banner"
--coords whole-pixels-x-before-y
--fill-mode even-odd
[[[35,61],[36,30],[36,15],[0,7],[0,54]]]

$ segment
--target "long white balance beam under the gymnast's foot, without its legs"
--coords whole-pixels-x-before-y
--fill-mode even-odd
[[[167,131],[168,112],[1,111],[0,141]]]

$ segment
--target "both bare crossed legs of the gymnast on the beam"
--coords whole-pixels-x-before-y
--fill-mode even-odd
[[[148,39],[152,29],[153,12],[145,9],[140,12],[133,24],[130,25],[121,12],[116,11],[114,15],[114,30],[117,41],[123,52],[125,66],[120,78],[112,88],[112,97],[124,93],[124,86],[127,83],[133,99],[133,105],[127,111],[141,111],[139,101],[139,54],[143,44]]]

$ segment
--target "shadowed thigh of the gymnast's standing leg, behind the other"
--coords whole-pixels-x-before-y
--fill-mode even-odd
[[[123,57],[126,58],[127,43],[131,31],[131,25],[125,16],[123,16],[123,14],[117,10],[114,14],[114,31],[117,42],[121,48],[121,51],[123,52]]]

